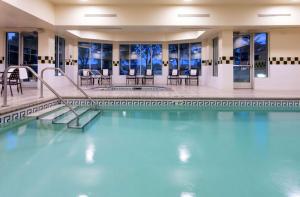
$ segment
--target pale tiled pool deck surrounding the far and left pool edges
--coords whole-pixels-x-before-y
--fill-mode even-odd
[[[93,98],[105,99],[300,99],[300,91],[266,91],[252,89],[219,90],[204,86],[165,86],[167,90],[101,90],[92,86],[82,88]],[[84,98],[75,87],[64,86],[56,88],[63,97]],[[24,88],[23,95],[13,90],[14,96],[8,96],[8,107],[2,107],[3,97],[0,101],[0,114],[7,113],[22,107],[46,102],[56,97],[45,89],[44,98],[40,98],[37,88]]]

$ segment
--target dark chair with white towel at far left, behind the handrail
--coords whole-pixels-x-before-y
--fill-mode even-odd
[[[7,85],[9,86],[11,96],[13,96],[12,86],[17,86],[18,93],[21,91],[21,94],[23,94],[19,69],[18,68],[9,69],[9,71],[7,73],[7,77],[8,77]],[[0,84],[2,85],[2,87],[1,87],[1,95],[2,95],[3,90],[4,90],[4,75],[3,75],[3,72],[2,72]]]

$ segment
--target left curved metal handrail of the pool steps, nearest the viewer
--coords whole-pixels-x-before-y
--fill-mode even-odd
[[[79,115],[74,111],[74,109],[64,101],[64,99],[38,74],[29,66],[9,66],[5,68],[4,70],[4,76],[3,76],[3,85],[4,85],[4,90],[3,90],[3,107],[7,107],[7,73],[10,68],[25,68],[29,70],[36,78],[38,78],[41,81],[41,84],[45,84],[45,86],[66,106],[70,109],[70,111],[76,116],[76,124],[79,125]]]

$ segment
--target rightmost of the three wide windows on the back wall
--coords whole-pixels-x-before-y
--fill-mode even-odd
[[[169,72],[178,69],[188,75],[190,69],[201,73],[201,43],[169,44]]]

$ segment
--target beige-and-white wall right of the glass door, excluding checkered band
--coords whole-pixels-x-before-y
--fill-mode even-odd
[[[300,31],[297,29],[272,30],[270,35],[270,58],[299,57]],[[300,90],[300,65],[269,65],[268,78],[255,78],[258,90]]]

